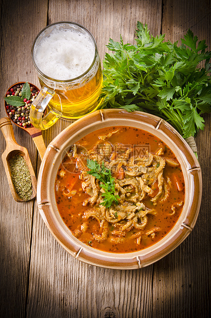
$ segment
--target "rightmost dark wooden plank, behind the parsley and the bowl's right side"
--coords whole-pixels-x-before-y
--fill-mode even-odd
[[[210,49],[210,3],[204,1],[164,1],[162,33],[171,42],[180,40],[190,28]],[[181,44],[181,42],[179,41]],[[197,138],[203,174],[203,196],[193,232],[172,253],[154,265],[153,316],[208,317],[210,312],[210,119]]]

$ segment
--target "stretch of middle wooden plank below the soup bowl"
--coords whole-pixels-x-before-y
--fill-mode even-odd
[[[54,240],[38,211],[31,257],[28,317],[151,315],[153,266],[120,271],[81,263]]]

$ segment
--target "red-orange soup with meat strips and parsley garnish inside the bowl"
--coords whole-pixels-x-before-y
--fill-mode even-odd
[[[83,137],[70,147],[55,180],[57,208],[72,234],[113,253],[161,240],[177,222],[184,195],[174,153],[155,135],[132,127]]]

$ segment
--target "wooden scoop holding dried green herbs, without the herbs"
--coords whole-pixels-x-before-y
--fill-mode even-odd
[[[15,141],[14,137],[14,131],[12,127],[12,123],[9,118],[3,117],[0,120],[0,128],[3,132],[3,135],[6,140],[6,149],[4,153],[2,154],[2,161],[5,167],[6,175],[7,175],[7,180],[10,186],[10,190],[12,192],[12,195],[14,197],[14,200],[17,202],[24,202],[23,200],[16,192],[12,178],[11,178],[11,171],[10,171],[10,165],[9,161],[14,155],[21,155],[23,156],[24,160],[26,161],[26,164],[29,168],[29,172],[31,175],[31,183],[32,183],[32,195],[29,200],[32,200],[36,196],[36,176],[34,174],[34,170],[29,158],[29,153],[25,147],[22,147],[18,145]]]

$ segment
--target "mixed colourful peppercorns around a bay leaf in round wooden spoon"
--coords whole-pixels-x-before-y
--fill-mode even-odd
[[[22,88],[24,85],[15,85],[10,90],[7,91],[6,97],[10,96],[20,96],[22,97]],[[31,95],[30,98],[24,98],[23,102],[25,105],[17,107],[12,106],[6,102],[6,109],[8,112],[8,116],[10,119],[17,125],[27,128],[32,127],[30,122],[29,113],[30,113],[30,106],[31,103],[34,101],[35,97],[39,94],[38,91],[34,86],[30,86]]]

